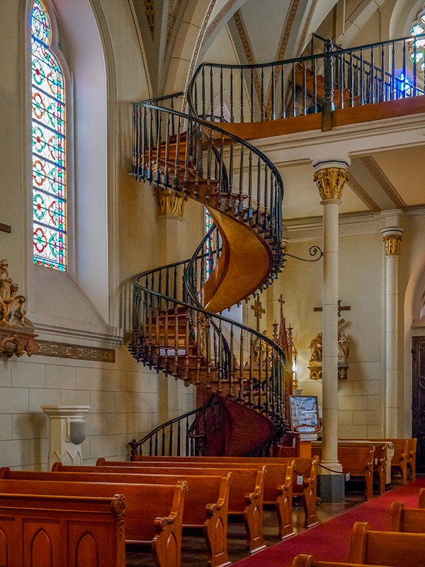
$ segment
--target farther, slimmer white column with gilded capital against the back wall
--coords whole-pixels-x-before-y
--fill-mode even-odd
[[[385,243],[385,437],[398,437],[398,259],[403,229],[383,228]]]

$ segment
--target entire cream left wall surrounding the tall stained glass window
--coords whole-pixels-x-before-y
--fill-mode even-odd
[[[91,0],[80,1],[89,9]],[[76,267],[70,274],[34,268],[30,258],[30,141],[26,137],[28,108],[24,102],[28,100],[27,8],[24,0],[11,0],[4,6],[0,22],[5,50],[0,63],[4,77],[0,89],[4,116],[0,121],[0,221],[10,224],[12,232],[0,232],[0,257],[9,260],[13,281],[19,284],[20,293],[28,296],[28,317],[36,322],[39,339],[114,348],[116,361],[110,364],[27,355],[1,360],[1,466],[47,467],[48,418],[41,405],[91,406],[86,418],[89,435],[82,447],[87,464],[98,456],[127,458],[129,441],[195,407],[194,388],[185,388],[183,382],[137,364],[128,353],[128,335],[120,339],[123,329],[118,328],[120,288],[128,291],[125,283],[131,276],[156,265],[166,235],[155,220],[152,189],[128,175],[132,101],[146,98],[148,92],[148,71],[128,6],[121,0],[93,0],[93,11],[81,28],[81,32],[93,31],[98,26],[93,55],[101,67],[75,97],[79,112],[74,117],[84,117],[77,133],[84,132],[84,123],[91,128],[94,119],[96,128],[91,133],[94,143],[85,140],[84,155],[75,169],[80,193],[72,203],[81,210],[72,224],[80,240],[75,264],[72,262]],[[69,18],[61,23],[64,50],[72,64],[72,57],[79,57],[77,50],[84,48],[69,38],[75,3],[71,6],[58,0],[57,7],[69,11]],[[83,75],[90,75],[89,57],[83,67]],[[101,97],[96,99],[99,93]],[[77,137],[70,133],[70,143],[77,145]],[[96,191],[100,208],[93,215]],[[200,233],[201,215],[198,206],[191,220],[179,223],[179,230],[167,236],[183,257],[193,249],[193,233],[196,237]],[[180,248],[176,246],[179,240],[183,242]],[[124,303],[122,312],[126,309],[129,315],[129,307],[129,301]],[[121,315],[120,320],[125,320],[125,313]]]

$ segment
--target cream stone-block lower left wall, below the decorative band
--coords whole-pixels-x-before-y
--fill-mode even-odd
[[[170,380],[170,378],[168,378]],[[41,405],[90,405],[84,419],[84,464],[99,456],[128,459],[128,442],[193,408],[194,388],[172,381],[173,415],[162,412],[167,396],[158,376],[130,358],[126,347],[115,364],[26,355],[0,363],[0,466],[47,470],[48,417]],[[169,417],[168,417],[169,416]]]

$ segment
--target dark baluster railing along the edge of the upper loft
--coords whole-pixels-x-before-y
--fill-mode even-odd
[[[266,64],[200,64],[188,88],[191,113],[220,122],[256,122],[424,94],[416,62],[425,34]],[[327,90],[327,92],[325,92]]]

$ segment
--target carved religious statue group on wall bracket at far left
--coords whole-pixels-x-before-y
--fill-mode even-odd
[[[17,296],[18,286],[8,273],[8,261],[0,260],[0,356],[21,357],[31,354],[34,327],[26,318],[24,296]]]

